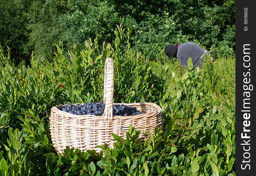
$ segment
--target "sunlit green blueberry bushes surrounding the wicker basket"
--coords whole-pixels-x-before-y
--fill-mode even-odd
[[[134,50],[123,22],[112,43],[58,42],[52,61],[32,53],[29,66],[0,48],[0,175],[235,175],[234,58],[201,69],[189,58],[183,73],[177,60],[162,65]],[[68,146],[56,153],[51,107],[102,101],[107,57],[114,60],[114,102],[158,104],[164,127],[150,136],[130,126],[126,140],[112,133],[114,148],[99,146],[100,153]],[[228,64],[226,72],[217,69]],[[139,133],[148,137],[143,144]]]

